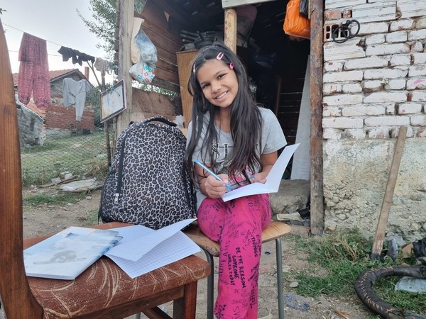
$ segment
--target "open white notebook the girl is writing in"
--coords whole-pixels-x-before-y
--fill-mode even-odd
[[[280,181],[283,178],[285,168],[299,145],[300,143],[297,143],[288,145],[284,148],[275,164],[273,164],[271,171],[268,173],[265,184],[256,182],[228,191],[222,196],[223,201],[230,201],[231,199],[255,194],[276,193],[280,188]]]

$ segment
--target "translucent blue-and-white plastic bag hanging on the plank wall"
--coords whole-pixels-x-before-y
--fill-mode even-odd
[[[139,30],[135,42],[141,50],[138,63],[129,69],[129,73],[136,81],[149,84],[155,77],[155,63],[157,62],[157,48],[143,30]]]

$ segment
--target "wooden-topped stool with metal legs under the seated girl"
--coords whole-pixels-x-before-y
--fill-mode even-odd
[[[283,291],[283,248],[281,237],[290,233],[291,227],[285,223],[273,221],[262,232],[262,243],[275,240],[276,260],[277,260],[277,284],[278,284],[278,318],[284,319],[284,291]],[[192,223],[184,233],[190,237],[202,250],[204,250],[207,261],[210,264],[210,274],[207,277],[207,319],[213,319],[213,298],[214,298],[214,259],[219,257],[219,242],[210,240],[204,235],[197,223]]]

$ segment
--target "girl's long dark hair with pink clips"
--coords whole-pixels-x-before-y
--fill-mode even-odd
[[[231,107],[231,136],[234,141],[234,152],[231,163],[229,164],[229,176],[235,177],[236,172],[243,173],[246,178],[246,167],[255,172],[256,167],[261,167],[261,132],[262,132],[262,117],[261,111],[258,108],[256,101],[253,100],[249,89],[249,81],[247,79],[246,68],[239,57],[234,54],[229,47],[226,47],[222,42],[215,42],[212,45],[203,47],[197,53],[192,64],[191,75],[188,82],[188,91],[193,96],[192,99],[192,133],[190,143],[185,154],[192,177],[195,177],[195,170],[192,164],[192,155],[197,147],[197,142],[200,140],[202,126],[204,123],[204,114],[208,113],[210,121],[207,125],[207,131],[204,140],[202,141],[202,150],[209,150],[208,154],[202,152],[202,157],[209,158],[209,163],[212,166],[215,164],[212,145],[218,142],[217,130],[214,126],[214,118],[219,113],[219,108],[209,103],[204,98],[202,88],[197,80],[197,71],[204,65],[207,60],[216,59],[217,55],[222,52],[222,61],[227,65],[234,65],[234,72],[239,83],[239,90]],[[205,162],[205,158],[203,159]]]

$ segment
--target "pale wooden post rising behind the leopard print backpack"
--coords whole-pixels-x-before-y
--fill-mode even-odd
[[[124,80],[126,89],[127,108],[124,112],[120,113],[117,117],[117,137],[120,133],[129,126],[131,122],[132,107],[132,94],[131,94],[131,75],[129,69],[131,63],[130,43],[131,33],[133,30],[133,16],[134,16],[134,0],[119,0],[120,5],[120,19],[119,19],[119,80]]]

